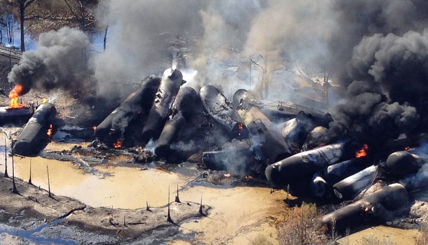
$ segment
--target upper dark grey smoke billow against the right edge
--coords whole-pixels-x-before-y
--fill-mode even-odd
[[[364,37],[349,67],[351,77],[379,83],[392,101],[418,106],[428,92],[428,30]]]

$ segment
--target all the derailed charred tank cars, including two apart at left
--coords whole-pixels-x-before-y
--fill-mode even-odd
[[[259,174],[294,196],[331,203],[354,200],[322,218],[336,228],[388,217],[385,213],[406,207],[412,193],[428,189],[428,174],[418,173],[425,160],[409,149],[409,140],[375,149],[352,139],[326,144],[321,139],[332,121],[327,113],[257,100],[245,89],[236,91],[231,102],[214,86],[196,92],[185,83],[178,69],[167,69],[161,78],[146,77],[96,126],[95,136],[115,148],[152,140],[156,157],[171,163],[200,153],[206,168]],[[3,121],[32,114],[28,106],[0,108]],[[14,152],[36,156],[52,134],[55,115],[53,104],[41,104],[24,125]],[[384,185],[366,193],[380,179]]]

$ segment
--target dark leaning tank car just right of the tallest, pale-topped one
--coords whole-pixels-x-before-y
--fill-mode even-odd
[[[202,113],[203,107],[201,99],[191,87],[183,87],[178,91],[172,104],[171,115],[169,120],[160,133],[158,142],[155,147],[155,154],[160,157],[172,158],[179,152],[174,151],[170,145],[177,139],[179,133],[184,129],[187,134],[191,134],[193,129],[186,127],[194,116]]]

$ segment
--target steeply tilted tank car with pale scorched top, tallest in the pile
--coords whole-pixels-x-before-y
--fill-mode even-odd
[[[178,69],[166,69],[163,72],[155,101],[144,126],[142,139],[147,143],[150,139],[158,139],[169,115],[172,103],[180,89],[186,83]]]

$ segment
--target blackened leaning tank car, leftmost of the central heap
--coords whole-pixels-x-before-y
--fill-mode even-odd
[[[143,79],[140,89],[131,93],[113,112],[95,129],[95,136],[111,144],[122,139],[131,122],[138,117],[145,117],[153,105],[160,78],[150,75]]]

